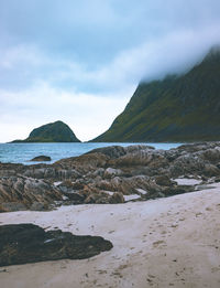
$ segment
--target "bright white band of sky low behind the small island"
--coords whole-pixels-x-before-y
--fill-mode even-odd
[[[0,142],[24,139],[33,128],[55,120],[68,124],[80,140],[90,140],[109,128],[132,93],[103,97],[59,90],[44,82],[28,90],[0,90]]]

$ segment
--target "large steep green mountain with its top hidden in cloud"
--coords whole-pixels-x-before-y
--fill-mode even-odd
[[[220,49],[180,76],[141,83],[109,130],[92,141],[220,140]]]

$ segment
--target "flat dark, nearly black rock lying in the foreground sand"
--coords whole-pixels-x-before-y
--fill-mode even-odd
[[[110,250],[112,244],[99,236],[76,236],[33,224],[0,226],[0,266],[57,259],[85,259]]]

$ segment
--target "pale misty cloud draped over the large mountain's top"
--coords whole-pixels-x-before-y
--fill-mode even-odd
[[[114,75],[118,83],[155,79],[167,73],[183,73],[201,61],[212,45],[220,43],[220,22],[198,30],[179,30],[120,53],[97,78]]]

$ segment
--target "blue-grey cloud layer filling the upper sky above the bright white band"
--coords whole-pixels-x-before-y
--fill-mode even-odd
[[[0,2],[0,87],[113,93],[184,71],[219,42],[220,2]]]

